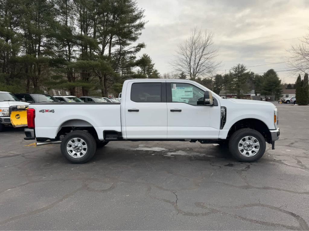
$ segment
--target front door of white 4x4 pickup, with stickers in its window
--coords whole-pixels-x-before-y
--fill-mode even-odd
[[[191,84],[171,82],[167,87],[167,138],[218,139],[220,105],[198,105],[204,90]]]

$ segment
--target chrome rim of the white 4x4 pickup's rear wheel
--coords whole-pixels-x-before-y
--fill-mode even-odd
[[[72,138],[66,144],[66,152],[74,159],[82,158],[88,150],[87,143],[81,138]]]

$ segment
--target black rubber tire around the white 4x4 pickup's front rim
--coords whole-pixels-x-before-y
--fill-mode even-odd
[[[244,137],[254,137],[259,143],[259,146],[254,146],[254,144],[252,145],[254,146],[254,148],[258,148],[258,151],[253,156],[246,156],[245,153],[248,152],[246,152],[244,149],[243,154],[239,150],[239,147],[241,147],[239,146],[240,142],[243,142],[242,140],[244,139]],[[266,149],[266,143],[264,137],[260,132],[253,130],[251,128],[242,128],[234,132],[233,135],[231,136],[229,141],[229,149],[232,155],[237,160],[242,162],[254,162],[256,160],[259,160],[264,155]]]

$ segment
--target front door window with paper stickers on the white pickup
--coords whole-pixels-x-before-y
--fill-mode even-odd
[[[204,98],[204,91],[189,83],[171,83],[172,102],[188,103],[197,106],[197,101]]]

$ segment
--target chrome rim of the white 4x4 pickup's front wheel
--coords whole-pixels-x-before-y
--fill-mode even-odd
[[[245,157],[255,156],[260,150],[260,142],[254,136],[245,136],[238,142],[238,151]]]

